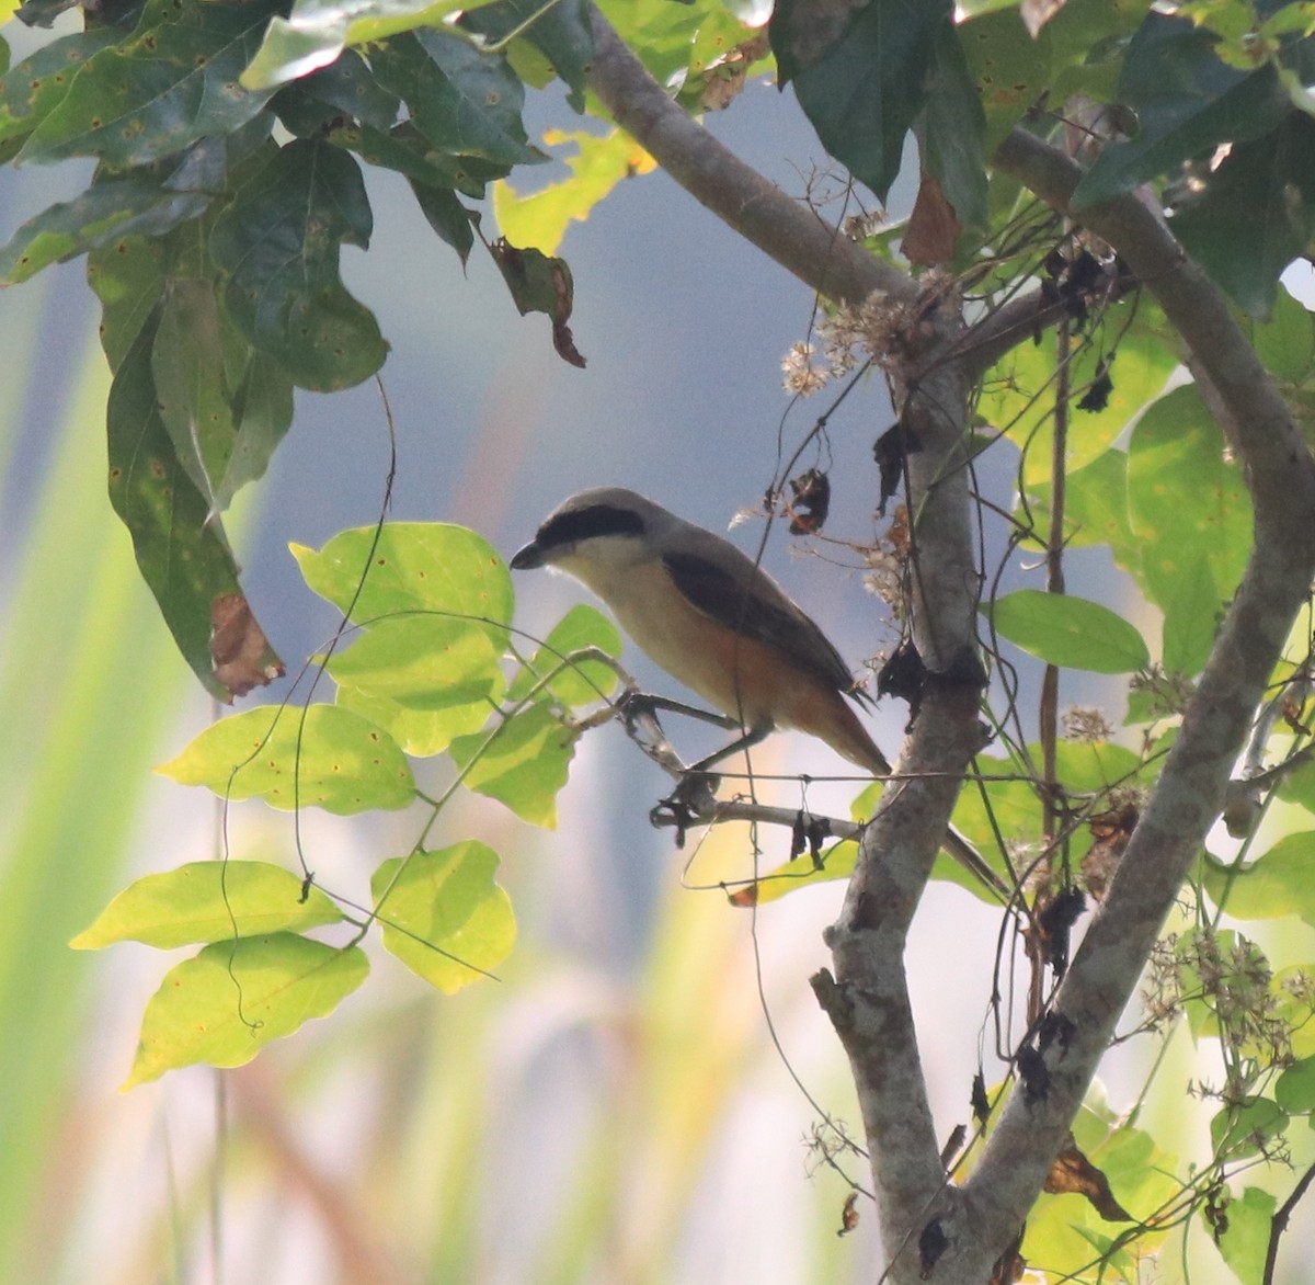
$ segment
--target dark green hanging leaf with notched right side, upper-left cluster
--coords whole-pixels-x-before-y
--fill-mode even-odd
[[[360,168],[337,147],[280,147],[214,222],[210,254],[250,343],[301,388],[350,388],[384,363],[373,314],[338,274],[341,246],[366,249],[372,218]]]

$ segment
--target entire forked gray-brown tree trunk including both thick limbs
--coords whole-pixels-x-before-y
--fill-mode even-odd
[[[965,327],[811,210],[735,159],[672,103],[594,16],[593,87],[622,128],[679,183],[819,293],[874,291],[927,318],[888,374],[909,456],[913,631],[930,679],[898,771],[868,827],[844,908],[827,931],[834,975],[813,979],[849,1057],[892,1282],[982,1285],[1041,1190],[1174,897],[1223,805],[1232,764],[1315,576],[1315,464],[1220,292],[1137,197],[1070,210],[1081,168],[1015,130],[994,158],[1056,210],[1107,241],[1177,327],[1208,384],[1255,501],[1255,546],[1152,800],[1060,988],[1043,1051],[1045,1092],[1015,1092],[972,1176],[944,1175],[918,1054],[903,948],[963,775],[980,748],[977,570],[964,468],[972,385],[1060,309],[1028,296]],[[924,312],[918,312],[924,309]]]

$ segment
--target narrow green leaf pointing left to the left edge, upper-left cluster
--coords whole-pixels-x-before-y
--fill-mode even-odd
[[[0,285],[25,281],[51,263],[66,263],[117,237],[156,237],[195,218],[209,192],[175,192],[142,179],[108,179],[71,201],[29,218],[0,249]]]

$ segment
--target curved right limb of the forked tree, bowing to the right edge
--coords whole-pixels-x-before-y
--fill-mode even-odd
[[[1081,171],[1066,157],[1015,132],[995,159],[1068,212]],[[1066,1039],[1047,1054],[1049,1089],[1031,1103],[1022,1093],[1014,1096],[964,1188],[969,1217],[997,1247],[1036,1198],[1174,897],[1219,815],[1230,771],[1315,575],[1315,464],[1219,291],[1135,197],[1073,217],[1114,246],[1147,284],[1193,363],[1208,377],[1247,470],[1256,541],[1155,796],[1056,997],[1055,1007],[1069,1025]]]

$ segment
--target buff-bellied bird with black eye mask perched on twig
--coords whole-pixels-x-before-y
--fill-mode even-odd
[[[890,764],[846,701],[871,704],[840,654],[734,545],[634,491],[600,487],[548,514],[513,559],[559,567],[611,608],[672,677],[735,719],[742,735],[700,767],[778,727],[798,727],[876,776]]]

